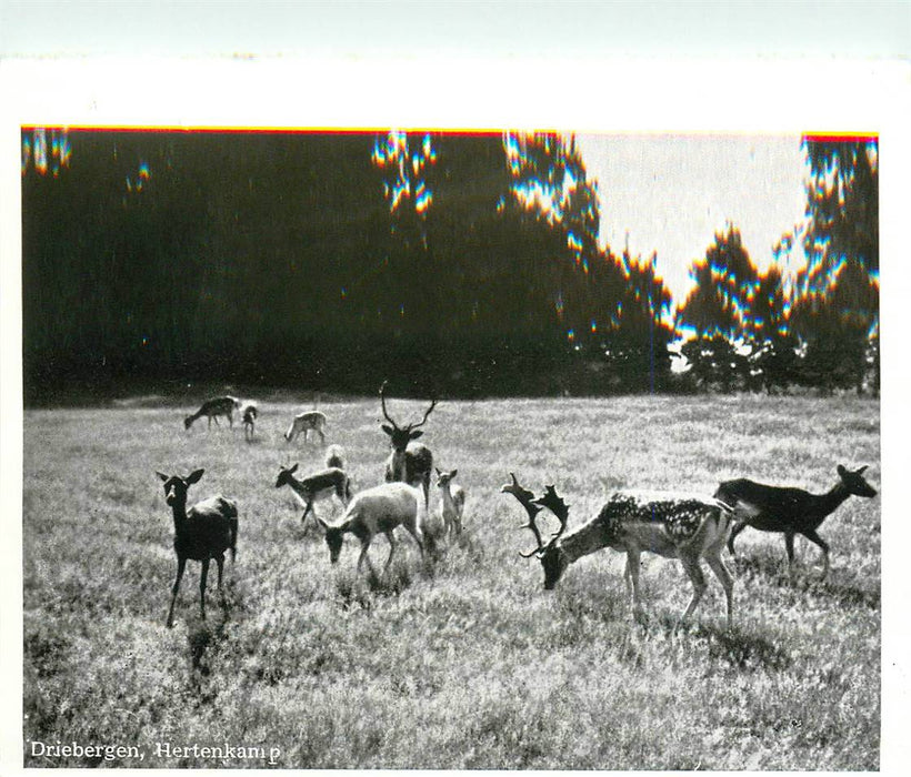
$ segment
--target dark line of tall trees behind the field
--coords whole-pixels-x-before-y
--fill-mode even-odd
[[[810,258],[730,225],[674,306],[572,135],[22,131],[27,402],[238,382],[439,396],[870,383],[877,155],[804,143]],[[681,347],[680,336],[684,336]],[[685,359],[689,370],[672,369]]]

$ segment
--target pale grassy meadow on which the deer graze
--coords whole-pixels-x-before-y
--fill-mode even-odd
[[[392,400],[397,420],[424,404]],[[261,402],[257,438],[184,432],[191,407],[154,402],[24,416],[24,740],[136,746],[142,760],[32,757],[26,766],[426,769],[825,769],[880,763],[880,498],[851,498],[820,534],[832,568],[798,537],[738,538],[735,628],[709,591],[674,625],[691,587],[679,563],[643,555],[645,617],[631,617],[624,559],[603,551],[557,589],[520,549],[524,514],[508,473],[553,483],[570,525],[619,487],[713,493],[749,476],[814,492],[835,465],[869,464],[880,487],[879,403],[853,396],[615,397],[441,402],[422,438],[468,492],[464,532],[422,563],[402,536],[384,579],[358,574],[356,541],[330,567],[320,531],[273,487],[280,464],[322,466],[288,444],[301,407]],[[327,403],[328,442],[356,488],[382,480],[377,398]],[[239,503],[226,597],[199,564],[176,571],[173,523],[156,471],[204,467],[190,503]],[[433,494],[433,505],[439,495]],[[321,517],[340,517],[320,502]],[[371,548],[381,568],[388,553]],[[222,760],[176,747],[246,747]],[[170,746],[170,750],[161,747]],[[256,748],[276,757],[259,757]],[[272,750],[276,748],[276,750]],[[244,757],[249,756],[249,757]],[[269,761],[273,763],[269,763]]]

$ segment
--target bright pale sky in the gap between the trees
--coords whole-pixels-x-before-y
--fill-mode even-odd
[[[732,222],[761,270],[772,246],[802,221],[807,174],[799,135],[584,134],[585,170],[599,185],[601,241],[648,259],[675,303],[688,270]]]

